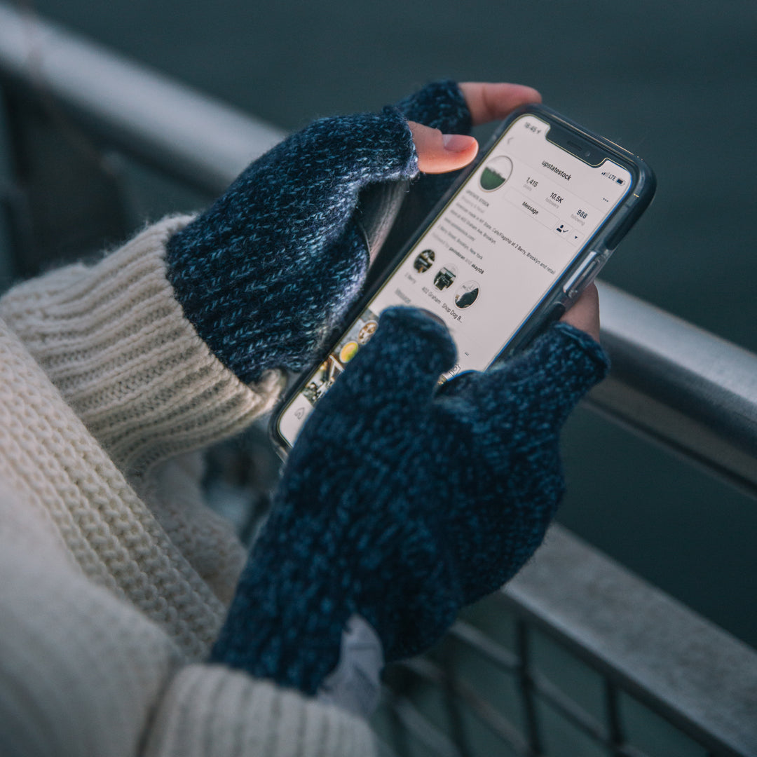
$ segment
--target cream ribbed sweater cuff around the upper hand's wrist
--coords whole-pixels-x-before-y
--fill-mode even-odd
[[[0,317],[127,472],[241,431],[284,382],[271,371],[243,384],[185,319],[164,245],[190,220],[163,220],[95,265],[58,269],[0,300]]]

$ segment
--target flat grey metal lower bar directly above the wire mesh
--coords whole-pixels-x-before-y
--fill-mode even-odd
[[[565,529],[499,596],[716,754],[757,754],[757,651]]]

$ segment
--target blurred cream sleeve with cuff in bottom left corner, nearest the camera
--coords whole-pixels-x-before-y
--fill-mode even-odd
[[[0,752],[372,755],[347,712],[218,665],[86,578],[41,513],[0,491]]]

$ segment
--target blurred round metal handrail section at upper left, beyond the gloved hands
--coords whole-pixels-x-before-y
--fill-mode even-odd
[[[189,184],[222,192],[285,132],[0,3],[0,76]]]

